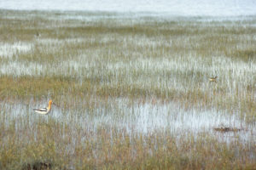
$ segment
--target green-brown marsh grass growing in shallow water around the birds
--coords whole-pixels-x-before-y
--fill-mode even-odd
[[[0,168],[256,168],[255,22],[0,10]]]

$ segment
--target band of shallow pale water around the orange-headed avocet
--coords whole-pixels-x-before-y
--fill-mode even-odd
[[[47,103],[47,101],[45,101]],[[18,131],[23,126],[37,126],[35,122],[40,119],[54,119],[56,122],[67,123],[70,127],[79,126],[88,133],[96,133],[98,127],[106,129],[119,129],[132,135],[151,134],[154,132],[169,132],[174,135],[193,133],[210,133],[223,142],[241,139],[244,142],[256,141],[256,125],[247,124],[236,113],[229,114],[214,109],[184,110],[182,105],[172,102],[166,104],[143,103],[128,105],[126,99],[111,99],[106,105],[99,105],[93,112],[83,111],[81,108],[73,111],[62,111],[54,106],[48,116],[41,116],[32,111],[42,105],[34,103],[24,105],[21,103],[1,103],[2,123],[9,126],[14,120],[24,119],[26,123],[16,122]],[[27,120],[28,119],[28,120]],[[214,127],[239,128],[238,132],[216,132]],[[76,130],[73,128],[73,130]],[[178,136],[177,136],[178,137]],[[253,140],[252,140],[253,139]]]

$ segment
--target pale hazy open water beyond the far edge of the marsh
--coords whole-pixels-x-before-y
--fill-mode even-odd
[[[1,8],[238,16],[255,15],[256,0],[0,0]]]

